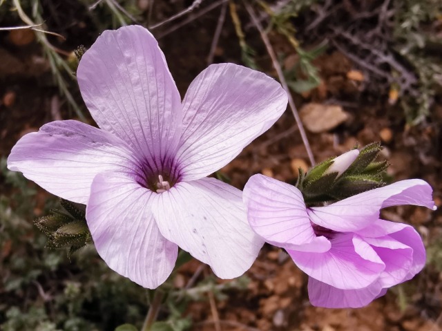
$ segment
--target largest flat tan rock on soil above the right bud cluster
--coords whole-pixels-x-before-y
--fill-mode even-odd
[[[299,115],[306,129],[312,133],[332,130],[349,118],[341,106],[315,103],[303,106]]]

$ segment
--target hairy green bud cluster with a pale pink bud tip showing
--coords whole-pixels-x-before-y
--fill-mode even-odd
[[[374,142],[361,151],[353,149],[337,158],[329,158],[307,173],[299,169],[296,187],[310,206],[336,202],[382,187],[389,165],[387,161],[376,161],[382,149],[381,143]]]

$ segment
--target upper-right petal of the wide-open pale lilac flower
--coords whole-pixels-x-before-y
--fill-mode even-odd
[[[276,80],[236,64],[212,64],[193,80],[183,101],[185,180],[224,167],[278,120],[287,95]]]

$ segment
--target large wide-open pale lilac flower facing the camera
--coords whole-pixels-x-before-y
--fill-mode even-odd
[[[263,241],[247,223],[242,192],[206,176],[285,111],[280,84],[216,64],[181,102],[157,41],[141,26],[103,32],[77,78],[101,129],[73,120],[46,124],[17,142],[8,168],[86,204],[99,255],[144,287],[171,274],[178,246],[220,278],[243,274]]]

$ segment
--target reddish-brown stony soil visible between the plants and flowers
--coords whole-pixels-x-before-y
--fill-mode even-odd
[[[211,12],[160,39],[182,95],[193,77],[207,65],[217,19],[218,13]],[[97,34],[97,31],[87,32],[88,21],[81,20],[81,15],[66,28],[60,28],[56,22],[47,23],[49,28],[67,37],[66,41],[51,39],[65,50],[73,50],[79,44],[90,46]],[[25,133],[37,131],[52,120],[75,118],[66,100],[59,95],[48,62],[30,33],[17,37],[17,34],[0,32],[0,156],[7,156]],[[276,77],[256,30],[249,28],[246,33],[253,40],[262,69]],[[270,37],[276,48],[287,47],[278,44],[277,36]],[[30,42],[21,42],[26,38]],[[229,20],[222,30],[214,61],[241,63],[237,37]],[[400,106],[389,104],[387,92],[385,95],[364,93],[360,79],[354,76],[360,73],[358,66],[338,50],[330,48],[315,64],[320,68],[322,82],[309,93],[294,93],[298,110],[313,103],[340,106],[345,112],[345,120],[331,129],[318,133],[307,130],[316,162],[348,151],[356,143],[364,146],[381,141],[385,145],[382,157],[392,164],[388,172],[392,179],[427,180],[434,188],[436,205],[441,207],[442,104],[432,107],[423,124],[408,126]],[[72,85],[75,86],[75,82]],[[81,102],[77,88],[72,88],[72,93]],[[84,106],[82,102],[81,105]],[[254,173],[294,182],[298,167],[309,167],[309,159],[294,117],[287,110],[267,133],[224,167],[222,173],[233,186],[242,189]],[[1,177],[0,190],[8,191]],[[435,243],[442,232],[440,211],[398,207],[385,211],[384,217],[414,225],[427,245]],[[189,281],[198,269],[201,267],[196,261],[184,265],[178,273],[177,286]],[[202,270],[200,278],[209,273],[208,267]],[[432,264],[412,281],[357,310],[312,307],[307,296],[307,276],[276,247],[265,245],[247,276],[251,279],[247,291],[232,291],[225,301],[192,303],[187,314],[193,318],[193,330],[442,330],[442,274]],[[404,297],[405,305],[401,304]]]

